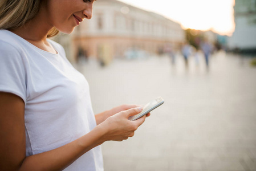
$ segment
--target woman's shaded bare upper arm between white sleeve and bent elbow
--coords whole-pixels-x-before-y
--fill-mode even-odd
[[[23,100],[0,92],[0,170],[18,170],[26,156]]]

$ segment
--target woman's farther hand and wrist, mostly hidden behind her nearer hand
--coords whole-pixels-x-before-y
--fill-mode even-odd
[[[95,115],[96,123],[97,123],[97,125],[99,125],[100,123],[102,123],[103,121],[108,119],[108,117],[113,116],[116,113],[119,113],[121,111],[127,111],[128,109],[137,108],[137,107],[141,107],[141,106],[142,105],[123,104],[118,107],[112,108],[108,111],[105,111],[105,112]],[[150,116],[150,113],[148,113],[146,116],[147,117]]]

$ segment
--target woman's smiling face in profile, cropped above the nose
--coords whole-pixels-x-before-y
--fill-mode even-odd
[[[83,19],[92,18],[92,5],[96,0],[48,0],[47,22],[60,32],[70,34]]]

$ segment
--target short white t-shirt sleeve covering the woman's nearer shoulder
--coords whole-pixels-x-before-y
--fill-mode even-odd
[[[21,52],[0,41],[0,91],[13,93],[26,104],[26,70]]]

